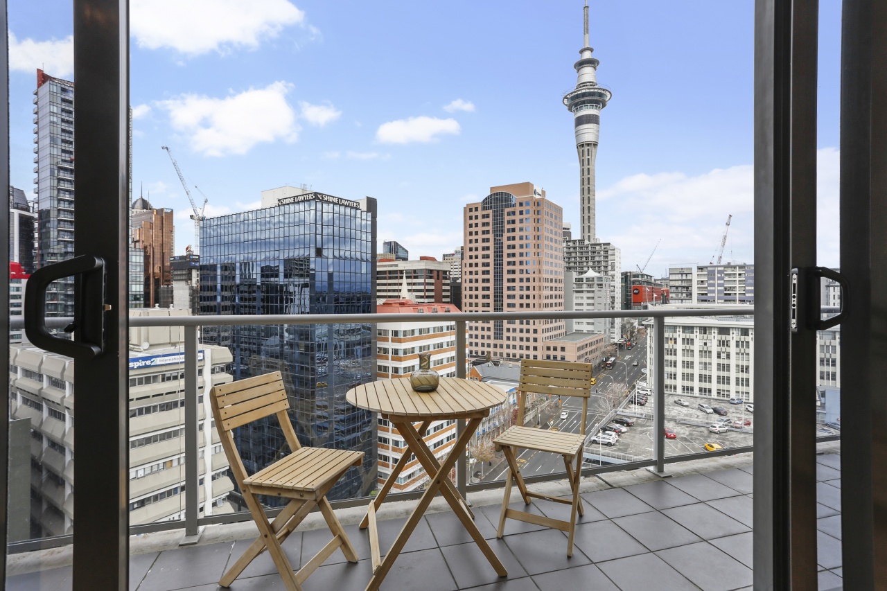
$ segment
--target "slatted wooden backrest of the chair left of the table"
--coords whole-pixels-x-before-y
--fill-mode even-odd
[[[241,488],[243,480],[249,475],[234,445],[233,429],[277,414],[280,429],[287,437],[290,449],[295,451],[302,447],[287,416],[289,401],[279,371],[215,386],[209,391],[209,400],[225,455]]]

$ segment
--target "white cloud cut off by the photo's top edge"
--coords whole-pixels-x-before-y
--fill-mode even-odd
[[[139,47],[188,56],[255,49],[305,21],[305,13],[287,0],[132,0],[130,11],[130,32]],[[311,31],[311,37],[319,35]]]

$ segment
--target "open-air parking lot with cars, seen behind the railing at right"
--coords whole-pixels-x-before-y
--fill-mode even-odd
[[[631,398],[631,397],[630,397]],[[675,404],[676,398],[687,400],[689,406]],[[743,430],[729,429],[724,433],[713,433],[709,425],[717,422],[718,414],[706,414],[697,408],[700,403],[708,406],[719,406],[726,410],[726,417],[732,421],[750,420],[751,425]],[[619,436],[618,443],[612,447],[607,445],[593,445],[599,447],[601,455],[629,456],[636,459],[648,459],[653,457],[653,406],[652,396],[645,406],[634,405],[626,402],[620,408],[617,416],[627,416],[634,419],[634,425],[624,434]],[[611,423],[612,421],[610,421]],[[595,424],[588,432],[597,432],[603,425]],[[725,449],[730,447],[743,447],[752,445],[754,429],[754,414],[745,410],[742,405],[731,405],[720,398],[702,398],[665,395],[665,427],[674,429],[677,437],[665,439],[662,433],[657,434],[665,441],[665,455],[681,455],[685,453],[700,453],[706,451],[704,445],[716,443]],[[627,459],[627,458],[625,458]]]

